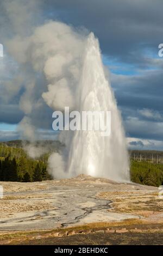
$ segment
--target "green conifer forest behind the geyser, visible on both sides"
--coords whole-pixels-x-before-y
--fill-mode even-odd
[[[59,151],[60,145],[56,145],[53,151]],[[0,181],[33,182],[52,179],[47,172],[48,156],[49,153],[46,153],[34,160],[22,148],[0,144]],[[130,151],[131,181],[149,186],[163,185],[162,156],[163,153],[159,151]]]

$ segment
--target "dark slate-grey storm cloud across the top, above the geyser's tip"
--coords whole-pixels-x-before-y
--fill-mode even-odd
[[[161,0],[47,0],[46,14],[74,26],[84,26],[99,38],[103,53],[122,62],[148,65],[143,51],[163,38]]]

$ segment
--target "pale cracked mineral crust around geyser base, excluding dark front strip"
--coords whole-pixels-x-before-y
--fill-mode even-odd
[[[139,218],[162,222],[158,188],[79,175],[33,183],[0,182],[0,230],[43,230]]]

